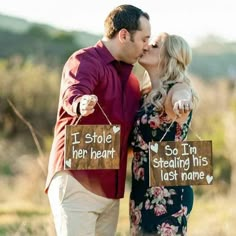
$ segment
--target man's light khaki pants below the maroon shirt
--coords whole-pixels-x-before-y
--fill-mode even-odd
[[[66,172],[57,173],[48,198],[57,236],[113,236],[119,200],[91,193]]]

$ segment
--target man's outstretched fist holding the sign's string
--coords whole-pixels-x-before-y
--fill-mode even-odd
[[[80,100],[79,110],[82,116],[88,116],[94,112],[94,107],[98,101],[96,95],[83,95]]]

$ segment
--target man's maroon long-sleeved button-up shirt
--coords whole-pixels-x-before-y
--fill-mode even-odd
[[[128,136],[139,107],[140,88],[133,66],[117,62],[99,41],[75,52],[66,62],[61,80],[57,121],[49,158],[45,192],[52,177],[64,169],[65,126],[78,121],[77,106],[84,94],[95,94],[112,124],[121,125],[119,170],[72,170],[70,173],[90,191],[107,198],[124,196]],[[108,124],[101,109],[82,117],[79,124]]]

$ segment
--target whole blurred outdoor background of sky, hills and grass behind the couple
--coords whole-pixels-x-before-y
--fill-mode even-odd
[[[54,236],[44,194],[63,64],[101,38],[111,9],[148,12],[152,36],[184,37],[189,77],[200,98],[189,140],[212,140],[214,183],[193,186],[189,236],[233,236],[236,222],[236,22],[234,0],[0,0],[0,236]],[[142,78],[143,70],[134,66]],[[132,154],[129,154],[129,160]],[[129,235],[128,195],[117,236]]]

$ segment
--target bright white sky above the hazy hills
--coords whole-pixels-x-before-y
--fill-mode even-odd
[[[236,31],[234,0],[0,0],[0,13],[50,24],[65,30],[103,33],[103,21],[120,4],[133,4],[151,17],[153,35],[162,31],[180,34],[192,45],[209,34],[233,41]]]

